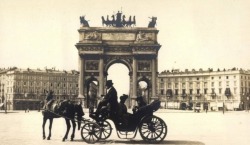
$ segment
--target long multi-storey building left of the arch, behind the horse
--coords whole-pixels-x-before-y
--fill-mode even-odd
[[[79,72],[52,69],[0,70],[0,103],[7,110],[39,110],[46,91],[54,91],[54,99],[75,99],[78,96]]]

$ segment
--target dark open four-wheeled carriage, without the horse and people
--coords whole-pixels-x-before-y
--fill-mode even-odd
[[[107,120],[110,119],[115,125],[117,136],[121,139],[135,138],[139,131],[144,141],[159,143],[167,135],[166,123],[161,118],[153,115],[159,108],[160,101],[157,100],[139,108],[133,114],[119,116],[105,107],[99,114],[90,114],[94,121],[88,121],[83,125],[81,136],[87,143],[95,143],[98,140],[109,138],[112,133],[112,126]]]

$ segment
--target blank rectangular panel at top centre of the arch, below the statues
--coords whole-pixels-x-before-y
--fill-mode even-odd
[[[135,33],[102,33],[102,40],[135,40]]]

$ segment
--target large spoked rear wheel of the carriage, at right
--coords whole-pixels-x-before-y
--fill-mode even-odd
[[[142,120],[139,132],[142,139],[149,143],[159,143],[167,135],[167,125],[159,117],[149,116]]]

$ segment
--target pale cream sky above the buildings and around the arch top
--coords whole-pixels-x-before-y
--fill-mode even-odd
[[[78,70],[79,17],[157,17],[158,71],[250,69],[249,0],[1,0],[0,68]]]

